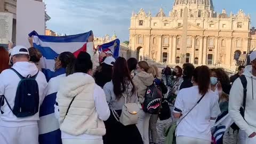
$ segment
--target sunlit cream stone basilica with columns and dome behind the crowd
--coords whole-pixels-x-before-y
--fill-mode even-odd
[[[184,11],[188,14],[185,25]],[[131,17],[131,54],[170,65],[182,64],[183,58],[195,65],[234,68],[234,58],[256,46],[250,21],[242,10],[214,12],[212,0],[175,0],[169,15],[160,9],[155,17],[141,9]],[[187,39],[182,38],[183,27],[187,27]]]

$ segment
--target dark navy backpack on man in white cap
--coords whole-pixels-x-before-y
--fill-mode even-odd
[[[13,70],[21,79],[17,87],[14,107],[11,108],[4,95],[2,95],[3,99],[0,100],[0,105],[3,106],[5,99],[7,106],[15,116],[28,117],[35,115],[38,113],[39,109],[39,90],[36,82],[36,77],[39,71],[34,76],[28,75],[27,77],[23,77],[15,69],[10,69]],[[1,113],[3,114],[4,112],[1,110]]]

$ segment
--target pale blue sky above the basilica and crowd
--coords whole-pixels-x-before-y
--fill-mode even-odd
[[[116,32],[121,41],[129,40],[131,13],[143,8],[155,15],[163,7],[166,15],[172,9],[173,0],[44,0],[51,20],[47,28],[58,33],[78,34],[93,30],[94,36],[110,36]],[[242,9],[251,14],[252,26],[256,26],[255,0],[213,0],[215,11],[237,13]]]

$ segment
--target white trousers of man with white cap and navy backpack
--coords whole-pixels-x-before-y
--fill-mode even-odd
[[[38,126],[29,125],[21,127],[0,126],[1,144],[37,144]]]

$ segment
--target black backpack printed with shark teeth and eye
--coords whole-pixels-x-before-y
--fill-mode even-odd
[[[143,110],[149,114],[159,114],[162,102],[162,90],[155,83],[147,87]]]

